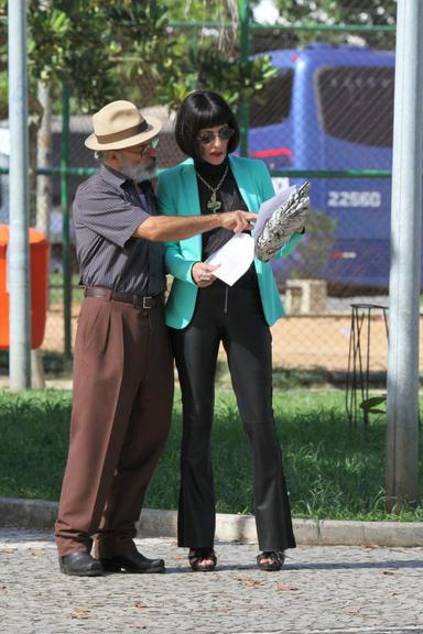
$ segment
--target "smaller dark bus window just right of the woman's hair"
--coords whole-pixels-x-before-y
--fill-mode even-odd
[[[263,128],[282,123],[290,114],[294,72],[286,70],[272,79],[264,92],[250,103],[250,125]]]

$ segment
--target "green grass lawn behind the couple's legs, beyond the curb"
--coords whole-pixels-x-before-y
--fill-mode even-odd
[[[294,516],[397,520],[384,512],[382,415],[348,426],[344,391],[276,391],[274,412]],[[57,500],[68,445],[70,393],[0,392],[0,495]],[[145,506],[176,509],[181,401]],[[251,513],[249,446],[234,395],[220,391],[214,427],[218,512]],[[422,487],[421,487],[422,491]],[[423,504],[400,520],[423,521]]]

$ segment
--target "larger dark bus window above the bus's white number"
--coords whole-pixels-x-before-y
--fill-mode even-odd
[[[392,145],[394,69],[321,67],[315,74],[324,131],[361,145]]]

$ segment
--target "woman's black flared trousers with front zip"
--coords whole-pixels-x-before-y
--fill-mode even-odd
[[[271,332],[259,289],[215,283],[198,292],[189,325],[172,329],[183,402],[178,546],[213,546],[215,494],[212,425],[219,342],[229,364],[253,466],[260,550],[295,547],[272,409]],[[234,447],[237,451],[237,447]]]

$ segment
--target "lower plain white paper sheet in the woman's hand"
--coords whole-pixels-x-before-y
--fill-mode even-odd
[[[206,263],[219,265],[216,277],[232,286],[249,269],[254,259],[254,241],[248,233],[236,233],[226,244],[207,258]]]

